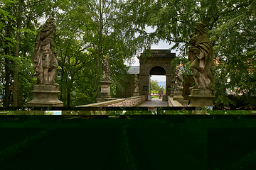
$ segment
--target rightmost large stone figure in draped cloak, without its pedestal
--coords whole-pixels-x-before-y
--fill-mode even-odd
[[[196,85],[191,89],[213,90],[212,56],[213,46],[210,43],[209,35],[205,30],[206,24],[196,23],[196,35],[190,35],[188,48],[188,60],[191,61],[191,70]]]

